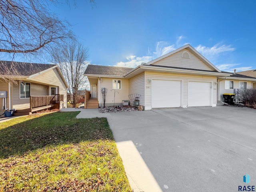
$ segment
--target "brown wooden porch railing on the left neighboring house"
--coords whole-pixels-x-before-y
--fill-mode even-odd
[[[30,96],[30,109],[50,106],[63,100],[64,95],[61,94],[56,94],[52,96]]]

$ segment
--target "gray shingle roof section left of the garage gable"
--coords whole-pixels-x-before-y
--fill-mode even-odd
[[[128,68],[128,67],[88,65],[84,74],[123,76],[124,74],[128,73],[132,69],[133,68]]]

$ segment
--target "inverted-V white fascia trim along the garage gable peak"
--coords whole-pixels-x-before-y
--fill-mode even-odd
[[[180,47],[180,48],[178,48],[178,49],[176,49],[176,50],[174,50],[174,51],[172,51],[172,52],[170,52],[170,53],[167,53],[167,54],[165,54],[165,55],[163,55],[163,56],[161,56],[161,57],[159,57],[159,58],[156,58],[156,59],[154,59],[154,60],[152,60],[152,61],[150,61],[150,62],[148,62],[148,63],[146,63],[146,64],[143,64],[143,65],[150,65],[150,64],[153,64],[154,62],[157,62],[157,61],[159,61],[159,60],[161,60],[161,59],[163,59],[163,58],[166,58],[166,57],[168,57],[168,56],[170,56],[170,55],[172,55],[172,54],[174,54],[174,53],[176,53],[176,52],[178,52],[178,51],[180,51],[180,50],[182,50],[182,49],[185,49],[185,48],[190,48],[191,50],[192,50],[192,52],[194,52],[195,54],[197,54],[200,58],[202,58],[202,60],[204,60],[207,64],[209,64],[212,68],[214,68],[216,71],[218,71],[218,72],[221,72],[218,68],[216,68],[216,66],[214,66],[210,61],[208,61],[204,56],[202,56],[197,50],[195,50],[190,44],[186,44],[186,45],[184,45],[184,46],[182,46],[182,47]]]

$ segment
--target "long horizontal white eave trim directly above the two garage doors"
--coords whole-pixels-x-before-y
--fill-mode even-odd
[[[155,67],[155,66],[140,66],[141,69],[154,69],[154,70],[166,70],[172,72],[190,72],[190,73],[199,73],[199,74],[210,74],[213,76],[226,76],[229,75],[227,73],[216,73],[216,72],[207,72],[207,71],[197,71],[197,70],[189,70],[189,69],[176,69],[176,68],[166,68],[166,67]]]

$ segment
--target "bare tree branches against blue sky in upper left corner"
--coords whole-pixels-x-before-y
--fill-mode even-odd
[[[73,37],[69,26],[40,0],[0,0],[0,52],[30,53],[61,44]]]

